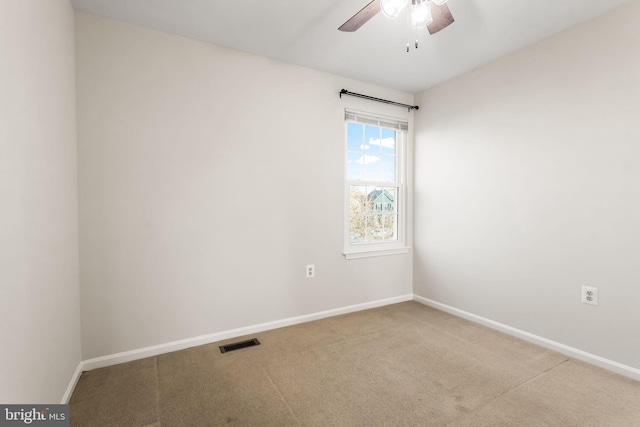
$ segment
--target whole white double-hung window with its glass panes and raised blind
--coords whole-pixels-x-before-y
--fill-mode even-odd
[[[407,122],[347,110],[345,249],[349,258],[406,253]]]

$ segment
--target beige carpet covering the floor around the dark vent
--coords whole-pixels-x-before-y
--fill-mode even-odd
[[[640,426],[640,382],[415,302],[82,374],[72,426]]]

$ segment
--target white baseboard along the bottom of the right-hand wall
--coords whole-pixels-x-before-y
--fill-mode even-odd
[[[466,312],[464,310],[457,309],[455,307],[451,307],[446,304],[442,304],[437,301],[430,300],[428,298],[421,297],[419,295],[413,295],[413,299],[421,304],[428,305],[433,308],[437,308],[438,310],[446,311],[447,313],[453,314],[458,317],[462,317],[464,319],[470,320],[475,323],[479,323],[481,325],[487,326],[491,329],[498,330],[500,332],[504,332],[506,334],[512,335],[516,338],[523,339],[525,341],[529,341],[533,344],[540,345],[542,347],[548,348],[550,350],[557,351],[558,353],[562,353],[564,355],[573,357],[578,360],[582,360],[583,362],[590,363],[592,365],[599,366],[601,368],[607,369],[609,371],[613,371],[617,374],[624,375],[629,378],[633,378],[634,380],[640,381],[640,369],[633,368],[631,366],[623,365],[622,363],[615,362],[613,360],[605,359],[604,357],[597,356],[595,354],[587,353],[586,351],[579,350],[577,348],[570,347],[568,345],[561,344],[559,342],[552,341],[547,338],[539,337],[537,335],[531,334],[529,332],[521,331],[520,329],[513,328],[508,325],[504,325],[502,323],[486,319],[484,317]]]

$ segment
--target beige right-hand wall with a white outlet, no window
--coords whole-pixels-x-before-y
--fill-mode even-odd
[[[640,368],[638,28],[633,2],[416,97],[416,294]]]

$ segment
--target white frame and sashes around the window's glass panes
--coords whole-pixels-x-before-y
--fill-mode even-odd
[[[348,179],[348,123],[359,123],[373,125],[381,128],[392,129],[401,132],[396,133],[396,181],[364,181]],[[395,125],[395,127],[394,127]],[[406,244],[406,223],[407,223],[407,146],[409,138],[407,120],[395,117],[382,116],[374,113],[345,110],[344,123],[344,251],[346,259],[367,258],[373,256],[406,254],[409,247]],[[351,243],[350,239],[350,190],[351,186],[377,186],[396,188],[396,209],[397,209],[397,240],[381,241],[370,243]]]

